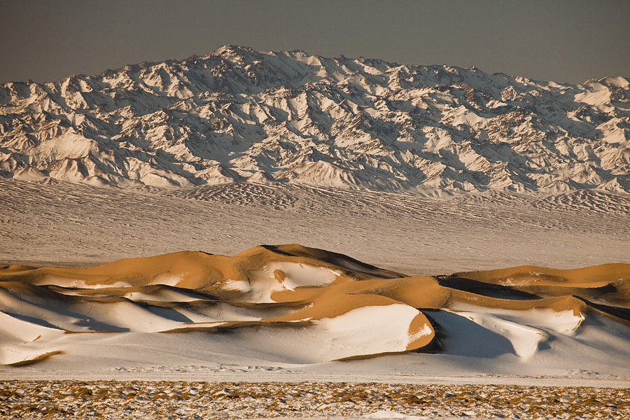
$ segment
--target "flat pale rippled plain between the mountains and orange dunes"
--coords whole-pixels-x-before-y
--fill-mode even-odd
[[[0,261],[85,267],[297,243],[406,274],[630,262],[630,195],[418,197],[284,184],[120,190],[0,179]]]

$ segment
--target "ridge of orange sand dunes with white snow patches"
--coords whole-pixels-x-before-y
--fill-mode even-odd
[[[492,353],[507,339],[509,350],[526,359],[556,335],[575,335],[588,316],[627,328],[629,285],[629,264],[410,277],[297,244],[256,246],[232,257],[183,251],[77,269],[12,265],[0,269],[0,363],[71,353],[76,335],[94,332],[238,329],[251,339],[287,337],[287,328],[295,346],[312,349],[311,363],[448,352],[460,342],[440,337],[471,328],[482,328],[485,337],[475,344],[479,357],[484,345]]]

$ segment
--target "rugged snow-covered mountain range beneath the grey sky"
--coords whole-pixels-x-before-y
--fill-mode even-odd
[[[223,46],[0,85],[0,176],[104,186],[233,181],[421,193],[630,193],[629,80]]]

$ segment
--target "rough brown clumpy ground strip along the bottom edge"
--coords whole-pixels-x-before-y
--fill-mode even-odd
[[[348,382],[3,381],[1,419],[243,419],[360,416],[629,419],[630,391]]]

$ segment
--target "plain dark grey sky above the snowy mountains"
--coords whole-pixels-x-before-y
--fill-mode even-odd
[[[0,83],[223,44],[580,83],[630,76],[630,1],[0,0]]]

